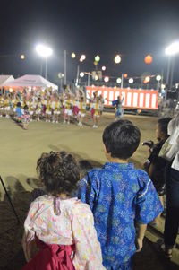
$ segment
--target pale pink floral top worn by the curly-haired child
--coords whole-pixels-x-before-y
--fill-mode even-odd
[[[56,214],[55,207],[60,208]],[[57,209],[56,209],[57,210]],[[60,211],[59,211],[60,210]],[[72,263],[76,270],[105,270],[90,206],[78,198],[55,200],[40,196],[31,205],[24,223],[23,249],[26,257],[37,236],[47,244],[75,245]]]

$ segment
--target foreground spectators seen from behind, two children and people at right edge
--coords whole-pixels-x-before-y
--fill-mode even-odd
[[[81,166],[67,152],[42,153],[37,171],[44,188],[31,195],[22,270],[133,269],[133,254],[141,251],[147,224],[158,224],[163,212],[165,192],[159,250],[172,257],[179,226],[179,116],[159,119],[156,131],[158,144],[146,143],[146,171],[129,162],[141,132],[124,119],[103,132],[108,161],[102,168],[92,169],[88,161]]]

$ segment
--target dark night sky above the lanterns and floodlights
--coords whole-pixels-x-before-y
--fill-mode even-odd
[[[71,59],[72,51],[87,56],[81,71],[94,69],[98,53],[99,64],[107,65],[105,74],[111,76],[161,74],[162,70],[166,74],[165,48],[179,39],[179,1],[1,0],[0,30],[0,74],[39,74],[42,60],[35,45],[40,41],[54,50],[48,60],[48,78],[55,83],[57,74],[64,72],[64,49],[68,80],[76,76],[79,63]],[[122,56],[121,65],[113,62],[116,53]],[[153,56],[152,65],[143,62],[147,54]],[[178,77],[176,57],[176,81]]]

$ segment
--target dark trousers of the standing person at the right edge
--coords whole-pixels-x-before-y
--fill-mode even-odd
[[[167,248],[173,248],[179,228],[179,171],[166,170],[166,222],[164,241]]]

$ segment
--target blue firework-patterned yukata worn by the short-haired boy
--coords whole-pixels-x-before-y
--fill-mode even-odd
[[[148,174],[132,163],[107,162],[81,179],[79,198],[90,205],[107,270],[132,269],[134,220],[146,224],[163,211]]]

